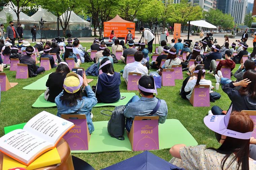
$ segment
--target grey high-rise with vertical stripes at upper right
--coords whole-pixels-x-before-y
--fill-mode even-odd
[[[247,0],[233,0],[231,8],[231,16],[234,17],[236,24],[244,23],[245,15],[247,13]]]

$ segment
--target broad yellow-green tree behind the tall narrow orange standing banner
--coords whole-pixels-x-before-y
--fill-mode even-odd
[[[179,4],[173,4],[170,10],[168,21],[181,23],[182,32],[188,21],[202,19],[202,8],[199,5],[192,5],[188,0],[181,0]]]

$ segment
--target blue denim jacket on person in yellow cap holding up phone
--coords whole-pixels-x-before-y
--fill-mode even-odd
[[[88,97],[85,97],[85,96],[82,97],[82,99],[84,100],[84,107],[78,113],[86,115],[89,132],[91,134],[94,131],[94,126],[92,123],[92,118],[90,113],[92,111],[92,108],[97,104],[97,98],[95,97],[95,93],[92,91],[90,86],[86,86],[85,91]],[[73,107],[69,107],[66,104],[62,104],[62,101],[60,101],[60,97],[62,95],[63,95],[63,91],[55,98],[55,103],[57,105],[57,110],[58,110],[57,116],[60,117],[61,114],[73,113],[81,107],[83,103],[82,100],[77,100],[77,105]]]

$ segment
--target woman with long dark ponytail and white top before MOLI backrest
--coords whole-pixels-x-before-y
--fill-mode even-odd
[[[209,90],[211,91],[212,82],[211,80],[204,79],[205,77],[205,70],[203,65],[197,65],[194,71],[195,76],[188,77],[183,81],[183,86],[181,89],[180,95],[182,98],[187,98],[190,100],[192,92],[194,90],[195,85],[210,85]],[[219,99],[221,95],[217,92],[210,93],[211,101],[215,101]]]

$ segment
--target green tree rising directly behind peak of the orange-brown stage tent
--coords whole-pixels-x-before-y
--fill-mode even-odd
[[[148,3],[147,0],[123,0],[120,1],[119,14],[125,20],[132,21],[137,16],[137,12],[142,10]]]

